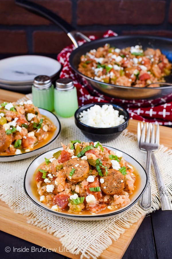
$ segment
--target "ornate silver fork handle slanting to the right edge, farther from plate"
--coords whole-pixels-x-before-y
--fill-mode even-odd
[[[172,210],[170,197],[169,197],[167,188],[165,187],[165,183],[163,181],[161,172],[159,171],[157,160],[155,159],[155,155],[153,153],[152,153],[152,161],[155,168],[155,175],[157,178],[157,185],[158,185],[159,197],[161,202],[161,210]]]

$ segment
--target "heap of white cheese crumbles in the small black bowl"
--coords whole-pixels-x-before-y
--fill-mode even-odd
[[[94,106],[79,114],[79,120],[91,127],[109,128],[124,123],[124,116],[119,116],[119,111],[114,110],[113,106],[104,104],[102,107]]]

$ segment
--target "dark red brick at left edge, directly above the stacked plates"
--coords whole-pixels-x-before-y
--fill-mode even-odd
[[[0,30],[0,53],[26,54],[28,44],[25,31]]]

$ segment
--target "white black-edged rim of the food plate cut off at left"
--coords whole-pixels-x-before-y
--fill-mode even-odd
[[[36,148],[36,149],[34,149],[30,152],[21,153],[19,155],[5,155],[5,156],[0,155],[0,162],[17,161],[17,160],[33,157],[35,155],[38,155],[38,154],[44,152],[46,150],[46,148],[48,148],[48,146],[50,146],[52,144],[52,142],[54,142],[56,140],[56,138],[59,136],[60,131],[61,131],[60,121],[58,120],[56,115],[54,115],[50,111],[47,111],[47,110],[42,109],[42,108],[39,108],[39,111],[42,115],[44,115],[48,119],[50,119],[53,122],[53,124],[56,126],[56,130],[54,131],[53,136],[48,140],[48,142],[44,146]]]

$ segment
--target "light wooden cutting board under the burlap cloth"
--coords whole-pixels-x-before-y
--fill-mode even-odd
[[[0,103],[4,101],[14,102],[23,97],[24,94],[0,89]],[[138,121],[130,119],[127,128],[128,131],[136,134],[137,123]],[[172,136],[172,129],[169,127],[160,126],[160,144],[163,144],[168,148],[172,148],[170,136]],[[110,245],[101,254],[99,259],[122,258],[143,219],[144,217],[133,224],[129,229],[126,228],[125,233],[121,235],[117,241],[112,241],[112,245]],[[42,247],[51,248],[52,250],[53,248],[56,248],[56,252],[58,254],[62,254],[73,259],[80,258],[80,255],[73,255],[64,250],[58,238],[48,234],[46,231],[36,226],[28,224],[26,217],[21,214],[14,213],[14,211],[2,201],[0,201],[0,230]]]

